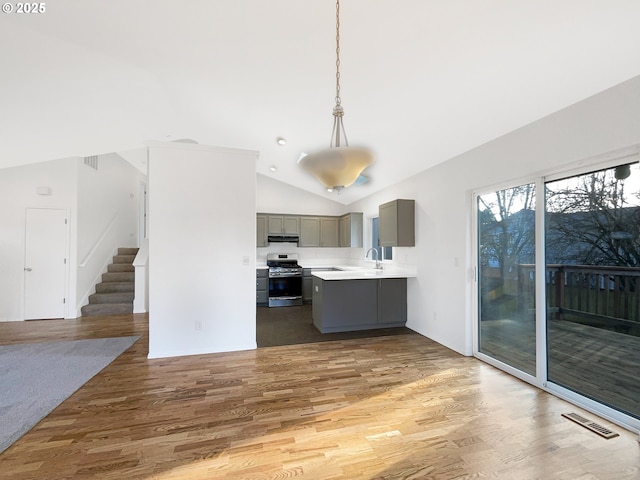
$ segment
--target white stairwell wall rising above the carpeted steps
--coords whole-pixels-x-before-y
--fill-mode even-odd
[[[78,159],[78,278],[76,315],[118,247],[138,246],[140,183],[146,176],[115,153],[99,155],[98,169]]]

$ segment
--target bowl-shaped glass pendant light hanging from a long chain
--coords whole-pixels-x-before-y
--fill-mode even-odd
[[[333,107],[333,130],[329,148],[311,153],[298,160],[327,189],[340,193],[352,185],[362,171],[373,163],[373,154],[366,148],[350,147],[342,123],[344,108],[340,98],[340,0],[336,2],[336,105]]]

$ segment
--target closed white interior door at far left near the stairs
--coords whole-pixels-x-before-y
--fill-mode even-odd
[[[28,208],[25,232],[24,318],[64,318],[67,213]]]

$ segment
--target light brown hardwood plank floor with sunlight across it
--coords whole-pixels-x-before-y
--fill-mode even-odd
[[[635,434],[420,335],[148,360],[144,315],[0,323],[3,344],[123,335],[3,479],[640,478]]]

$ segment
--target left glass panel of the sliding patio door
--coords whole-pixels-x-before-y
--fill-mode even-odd
[[[477,197],[478,351],[536,374],[535,186]]]

